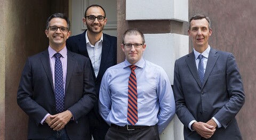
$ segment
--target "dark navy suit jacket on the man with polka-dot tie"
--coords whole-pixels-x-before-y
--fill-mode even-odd
[[[90,139],[86,114],[93,108],[96,100],[89,59],[68,51],[65,110],[70,110],[75,119],[65,126],[70,139]],[[47,113],[56,114],[48,50],[27,59],[21,75],[17,102],[29,116],[28,139],[52,135],[53,129],[47,123],[40,123]]]

